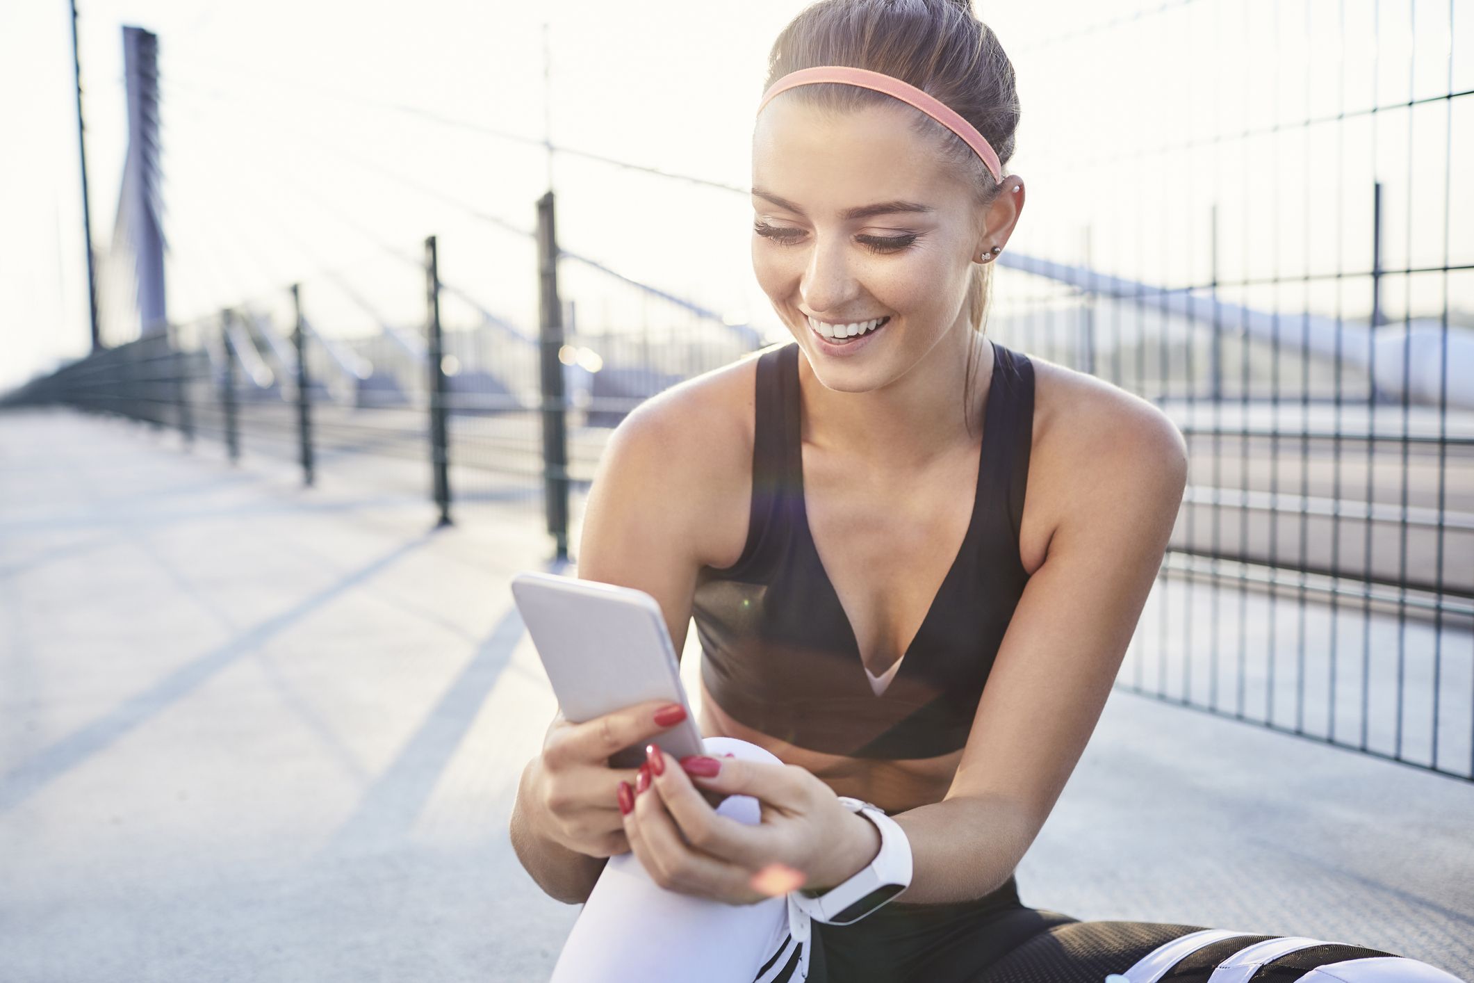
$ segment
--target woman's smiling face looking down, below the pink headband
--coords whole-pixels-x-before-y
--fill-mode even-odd
[[[827,388],[879,389],[929,355],[965,358],[985,217],[904,106],[836,116],[777,99],[753,131],[752,175],[753,271]],[[811,315],[890,320],[836,343]]]

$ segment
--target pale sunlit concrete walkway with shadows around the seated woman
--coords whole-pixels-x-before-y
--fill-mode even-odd
[[[507,591],[541,519],[432,531],[377,467],[302,491],[121,420],[0,414],[4,980],[547,977],[578,909],[506,833],[554,710]],[[1019,881],[1474,977],[1471,816],[1468,783],[1117,691]]]

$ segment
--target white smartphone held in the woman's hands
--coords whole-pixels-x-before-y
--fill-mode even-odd
[[[511,595],[565,718],[582,724],[634,703],[669,700],[685,707],[685,719],[650,741],[678,759],[703,752],[681,663],[653,597],[541,572],[513,576]],[[609,765],[638,768],[646,743],[616,752]]]

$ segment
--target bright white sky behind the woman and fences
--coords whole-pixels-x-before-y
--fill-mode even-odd
[[[435,233],[447,281],[534,327],[532,243],[483,217],[531,230],[545,155],[388,106],[539,139],[545,22],[554,143],[741,187],[768,47],[803,6],[422,0],[411,12],[361,0],[83,0],[94,243],[105,248],[111,236],[127,141],[121,27],[139,25],[159,35],[172,318],[249,298],[280,305],[282,287],[301,279],[326,332],[374,332],[366,308],[413,327],[420,274],[389,249],[417,256]],[[1201,281],[1216,196],[1225,279],[1363,270],[1375,172],[1387,183],[1384,265],[1442,264],[1450,212],[1465,217],[1453,223],[1452,258],[1470,262],[1467,183],[1445,199],[1446,102],[1381,113],[1375,130],[1362,119],[1278,143],[1134,156],[1276,118],[1334,115],[1340,105],[1471,88],[1467,0],[1452,28],[1449,4],[1431,0],[1381,0],[1375,24],[1372,4],[1356,0],[1201,0],[1125,27],[1100,25],[1162,4],[974,6],[1014,60],[1024,108],[1010,169],[1026,177],[1030,197],[1010,248],[1069,262],[1089,249],[1120,276]],[[1080,29],[1091,25],[1098,29]],[[1042,44],[1072,31],[1073,40]],[[1474,103],[1453,105],[1453,171],[1474,172]],[[87,346],[65,0],[0,4],[0,125],[4,388]],[[734,318],[774,321],[752,277],[744,195],[573,158],[559,158],[554,184],[566,249]],[[578,279],[587,274],[567,276],[570,296],[594,296]],[[1450,281],[1455,302],[1474,309],[1474,283],[1461,276]],[[1442,302],[1440,284],[1418,287],[1425,296],[1414,298],[1415,314]],[[1282,302],[1294,308],[1302,296]],[[1394,287],[1387,302],[1402,296]],[[613,304],[634,298],[625,290]],[[1334,304],[1324,292],[1309,302]],[[469,312],[453,304],[455,317]]]

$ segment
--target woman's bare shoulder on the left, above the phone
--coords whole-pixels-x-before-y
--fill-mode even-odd
[[[638,511],[680,535],[696,563],[736,562],[752,494],[759,354],[685,379],[635,407],[609,438],[591,504],[604,495],[638,498]]]

